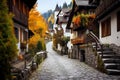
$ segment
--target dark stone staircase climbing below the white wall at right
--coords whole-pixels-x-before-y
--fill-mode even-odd
[[[93,48],[96,48],[96,46],[93,45]],[[116,55],[116,53],[108,47],[103,47],[102,50],[97,48],[97,54],[101,57],[107,74],[120,75],[120,55]]]

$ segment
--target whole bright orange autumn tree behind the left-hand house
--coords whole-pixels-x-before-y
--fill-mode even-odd
[[[37,5],[35,5],[29,13],[29,29],[34,33],[34,36],[29,40],[29,47],[32,49],[33,46],[40,46],[39,43],[42,43],[41,49],[45,49],[44,38],[46,36],[46,31],[48,30],[48,25],[44,17],[39,13],[39,11],[37,11],[36,7]]]

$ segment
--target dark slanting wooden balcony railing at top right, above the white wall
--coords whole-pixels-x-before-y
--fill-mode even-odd
[[[97,7],[97,9],[95,11],[96,16],[100,15],[101,13],[103,13],[115,1],[117,1],[117,0],[102,0],[102,2],[100,2],[100,5]]]

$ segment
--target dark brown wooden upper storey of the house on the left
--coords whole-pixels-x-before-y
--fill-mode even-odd
[[[22,0],[8,0],[8,9],[14,14],[14,21],[28,26],[29,7]]]

